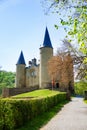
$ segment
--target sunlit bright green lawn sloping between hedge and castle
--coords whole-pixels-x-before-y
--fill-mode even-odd
[[[53,90],[49,90],[49,89],[41,89],[41,90],[35,90],[32,92],[28,92],[28,93],[23,93],[23,94],[19,94],[16,96],[13,96],[13,98],[26,98],[26,97],[30,97],[30,98],[38,98],[38,97],[47,97],[50,95],[55,95],[60,93],[59,91],[53,91]]]

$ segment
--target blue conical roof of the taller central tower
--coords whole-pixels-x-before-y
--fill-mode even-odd
[[[49,36],[49,32],[48,32],[47,27],[46,27],[45,36],[44,36],[43,47],[53,48],[52,44],[51,44],[51,40],[50,40],[50,36]]]

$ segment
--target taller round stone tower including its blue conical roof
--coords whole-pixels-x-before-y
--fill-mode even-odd
[[[40,88],[47,88],[51,83],[48,74],[47,65],[49,59],[53,56],[53,47],[51,44],[48,29],[46,27],[43,46],[40,48]]]

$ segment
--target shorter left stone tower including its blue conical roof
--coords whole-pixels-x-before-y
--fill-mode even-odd
[[[16,87],[25,87],[25,59],[21,51],[18,62],[16,64]]]

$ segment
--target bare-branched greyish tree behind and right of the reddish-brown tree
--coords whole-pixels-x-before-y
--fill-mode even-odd
[[[82,54],[78,46],[76,47],[74,44],[72,45],[69,41],[67,41],[67,39],[64,39],[62,43],[63,44],[61,48],[58,48],[57,50],[57,55],[63,56],[69,53],[73,59],[75,72],[77,72],[75,74],[76,79],[80,79],[80,80],[86,79],[87,66],[83,62],[86,56]]]

